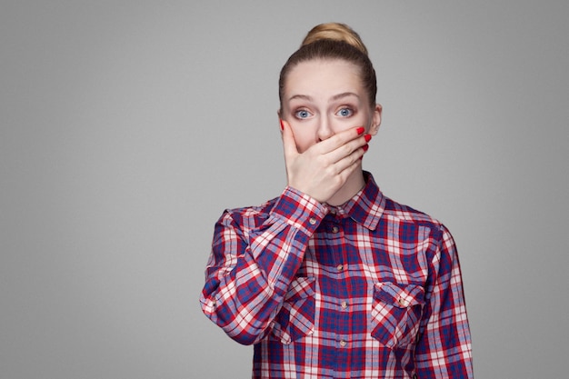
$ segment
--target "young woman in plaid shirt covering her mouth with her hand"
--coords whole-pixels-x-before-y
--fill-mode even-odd
[[[359,35],[314,27],[280,76],[284,192],[215,224],[202,309],[255,378],[473,377],[451,234],[362,169],[375,93]]]

